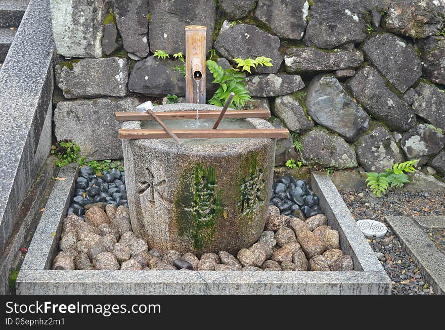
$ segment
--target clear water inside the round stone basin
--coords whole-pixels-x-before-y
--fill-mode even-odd
[[[163,120],[168,128],[174,129],[211,129],[216,119],[167,119]],[[162,129],[155,120],[145,120],[141,122],[142,129]],[[252,124],[244,119],[224,118],[219,123],[217,129],[249,129],[254,128]],[[173,139],[169,139],[173,140]],[[218,145],[231,142],[239,142],[242,138],[182,138],[184,144],[205,144]]]

